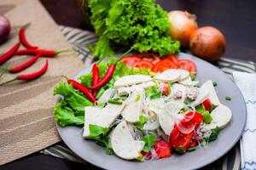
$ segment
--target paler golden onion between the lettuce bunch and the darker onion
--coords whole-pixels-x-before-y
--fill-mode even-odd
[[[195,14],[189,14],[187,11],[171,11],[168,14],[171,26],[170,36],[181,43],[183,48],[189,47],[189,38],[197,30]]]

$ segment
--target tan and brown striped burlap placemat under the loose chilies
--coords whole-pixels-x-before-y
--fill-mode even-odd
[[[0,44],[0,54],[18,42],[17,28],[28,22],[32,25],[26,36],[32,44],[49,49],[72,48],[38,0],[1,0],[1,13],[9,18],[12,32],[9,40]],[[30,58],[15,56],[0,69]],[[22,73],[37,71],[44,62],[45,58],[38,59],[35,65]],[[56,101],[52,95],[53,87],[61,80],[61,75],[71,77],[81,69],[83,64],[76,54],[59,54],[49,59],[49,68],[43,77],[0,87],[0,165],[60,141],[53,114]],[[6,74],[0,82],[13,77],[14,74]]]

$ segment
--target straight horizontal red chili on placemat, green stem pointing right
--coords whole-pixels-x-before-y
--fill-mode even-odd
[[[47,50],[47,49],[31,48],[31,49],[21,49],[21,50],[17,51],[15,54],[16,55],[23,55],[23,54],[36,55],[36,54],[42,54],[42,55],[47,56],[47,57],[54,57],[56,54],[61,54],[61,53],[68,52],[68,51],[70,51],[70,49],[65,49],[65,50]]]

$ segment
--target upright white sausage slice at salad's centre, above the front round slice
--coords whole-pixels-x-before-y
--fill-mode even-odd
[[[139,89],[133,91],[128,99],[125,100],[125,109],[122,116],[127,122],[139,122],[139,116],[143,112],[142,94]]]

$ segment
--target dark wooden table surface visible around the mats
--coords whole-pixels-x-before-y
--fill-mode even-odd
[[[57,24],[86,29],[75,0],[41,0]],[[227,58],[256,61],[255,0],[159,0],[166,10],[181,9],[196,14],[199,26],[215,26],[227,39]],[[1,156],[0,156],[1,157]],[[33,154],[0,167],[0,170],[92,169],[91,166]]]

